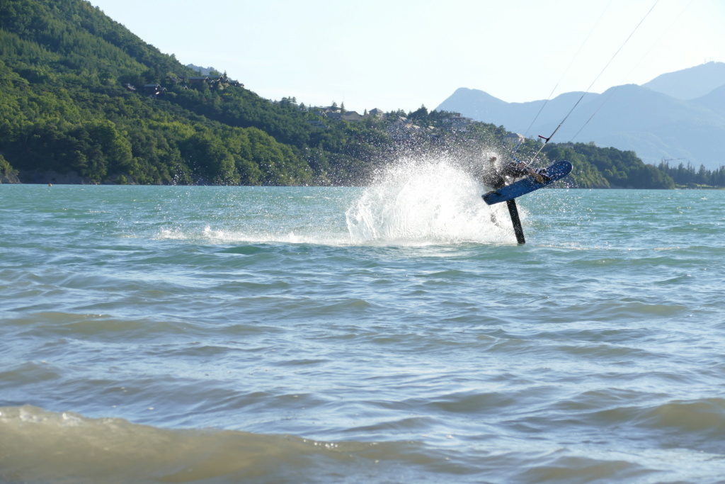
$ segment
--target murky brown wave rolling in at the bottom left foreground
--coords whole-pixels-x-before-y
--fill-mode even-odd
[[[0,407],[3,483],[355,482],[344,476],[360,478],[386,456],[406,459],[411,450],[417,454],[416,447],[233,430],[168,430],[35,406]],[[312,472],[315,479],[309,478]]]

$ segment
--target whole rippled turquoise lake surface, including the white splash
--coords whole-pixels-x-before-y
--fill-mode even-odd
[[[483,191],[0,186],[0,482],[725,482],[725,192]]]

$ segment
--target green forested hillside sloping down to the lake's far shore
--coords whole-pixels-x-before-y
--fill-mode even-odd
[[[225,73],[200,74],[87,1],[2,0],[0,179],[75,173],[79,183],[365,184],[402,154],[439,151],[480,165],[484,152],[514,146],[502,126],[452,112],[421,106],[360,115],[334,102],[262,99]],[[526,140],[515,156],[540,147]],[[537,165],[570,160],[569,184],[581,188],[724,183],[720,172],[681,182],[667,165],[594,144],[550,143],[542,156]]]

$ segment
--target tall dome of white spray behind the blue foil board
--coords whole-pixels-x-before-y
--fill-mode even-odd
[[[347,210],[352,244],[451,245],[515,242],[505,205],[447,157],[403,158]],[[522,213],[522,217],[526,214]]]

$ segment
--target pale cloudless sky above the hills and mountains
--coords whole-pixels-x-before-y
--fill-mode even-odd
[[[262,97],[361,113],[433,110],[459,87],[507,102],[587,91],[595,79],[589,91],[602,92],[725,62],[725,0],[91,4],[183,64],[226,71]]]

